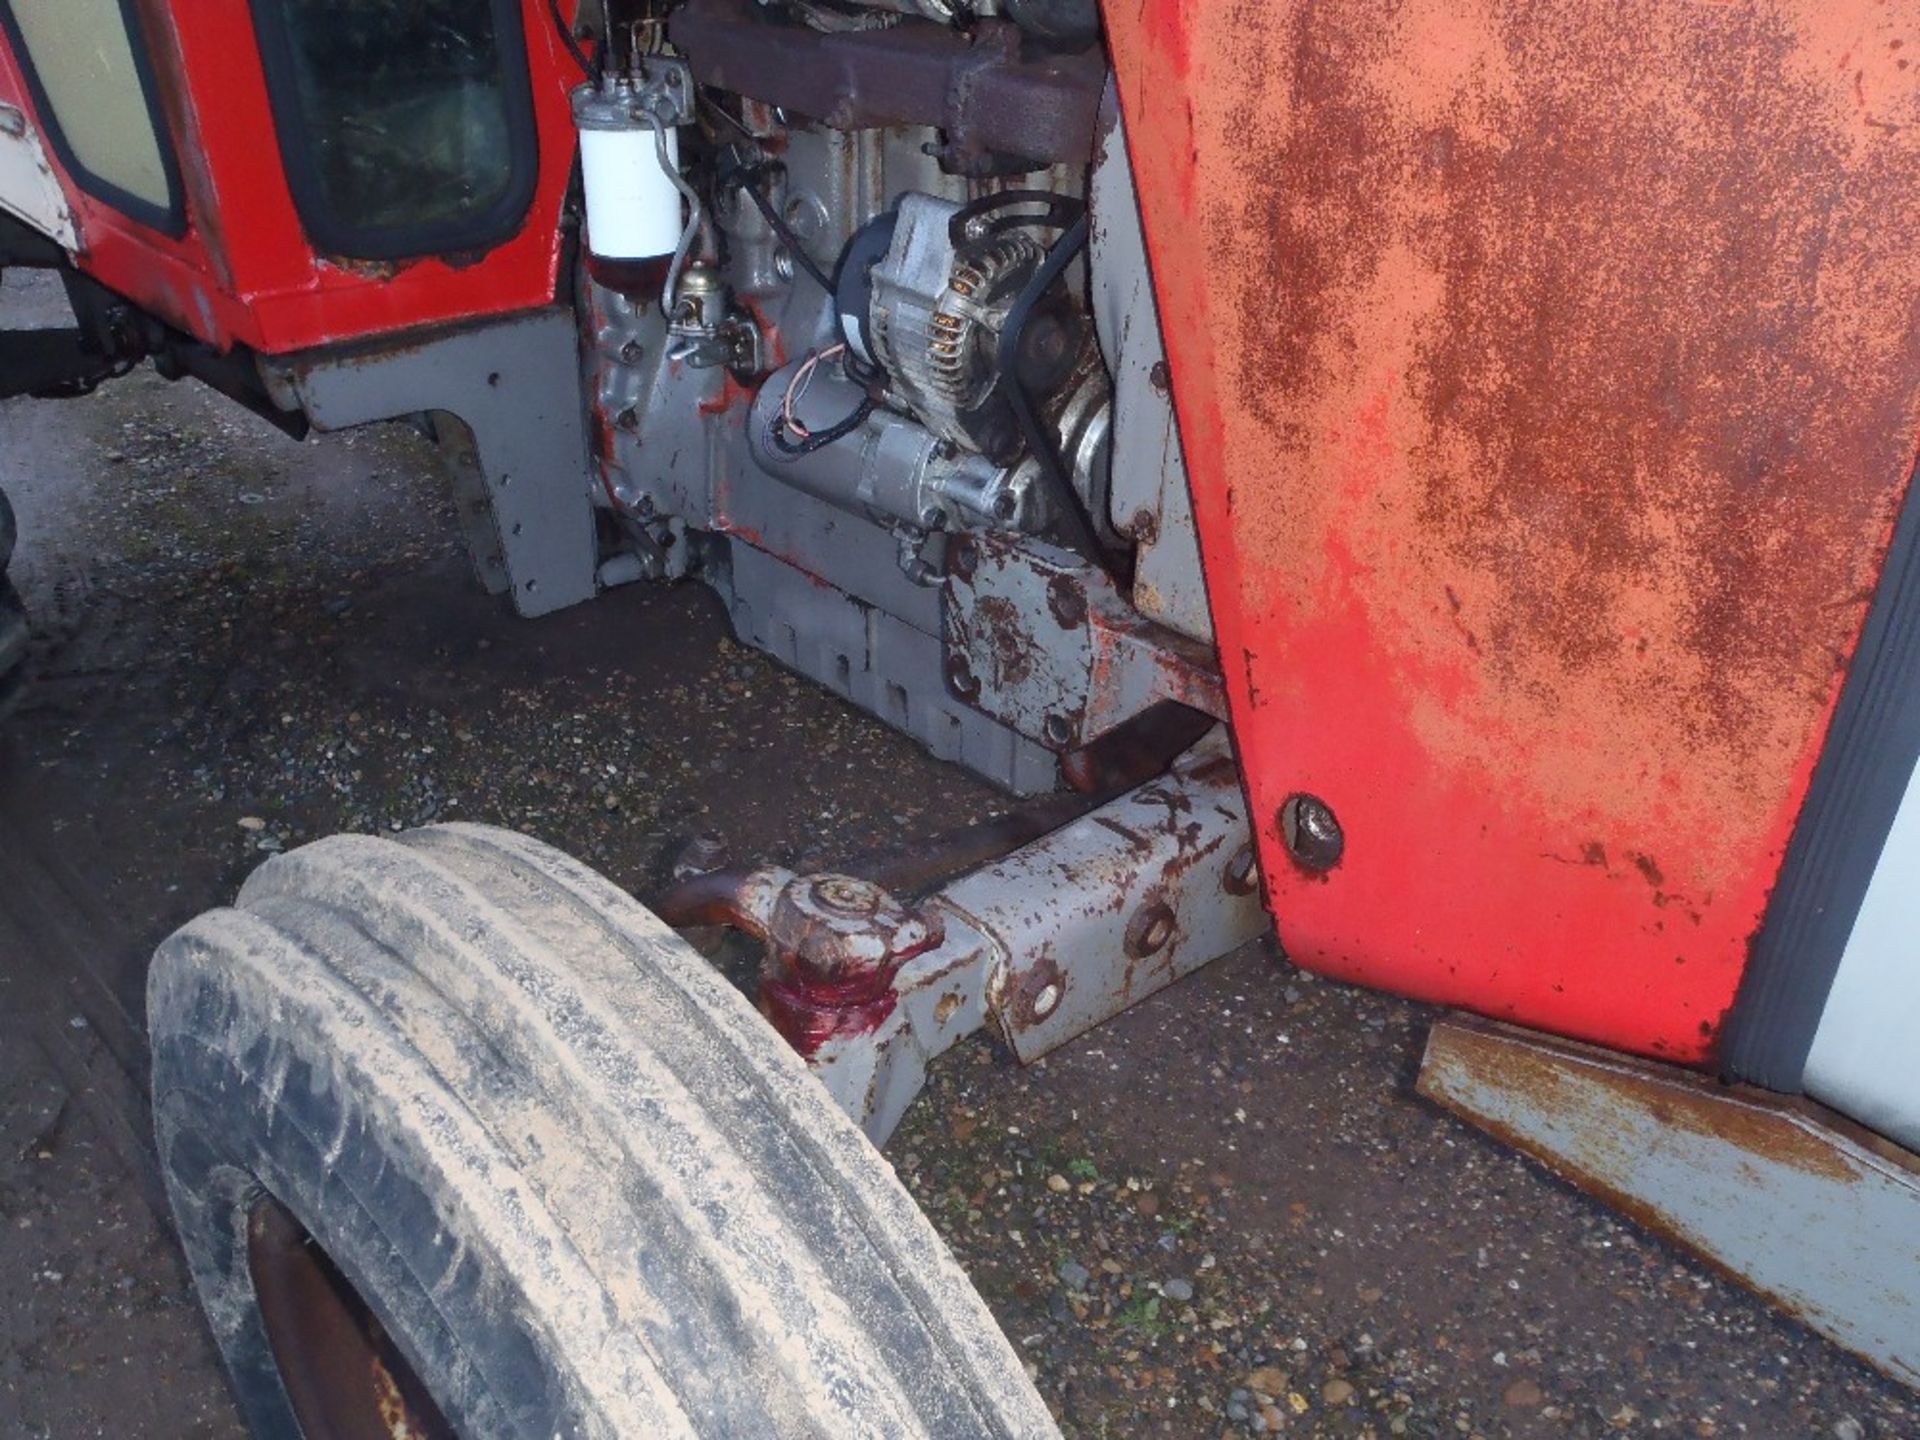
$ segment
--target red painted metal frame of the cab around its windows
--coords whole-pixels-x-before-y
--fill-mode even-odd
[[[221,349],[265,353],[545,305],[561,263],[572,171],[568,86],[578,81],[545,0],[522,0],[540,129],[540,177],[520,230],[482,257],[367,267],[317,253],[300,228],[275,144],[248,0],[138,0],[161,111],[180,161],[188,228],[173,238],[86,196],[61,171],[79,265],[169,324]],[[36,115],[0,38],[0,100]],[[58,159],[56,159],[58,167]]]

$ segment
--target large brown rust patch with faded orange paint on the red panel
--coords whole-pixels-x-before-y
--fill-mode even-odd
[[[1670,808],[1644,760],[1684,753],[1695,814],[1763,824],[1912,455],[1916,267],[1887,217],[1920,165],[1809,63],[1849,27],[1884,52],[1897,17],[1394,10],[1273,6],[1233,46],[1267,81],[1240,132],[1286,86],[1281,152],[1242,148],[1210,221],[1244,257],[1219,355],[1281,447],[1235,468],[1319,478],[1261,488],[1242,545],[1356,566],[1323,580],[1382,612],[1434,753],[1567,814]],[[1920,121],[1876,69],[1880,119]]]

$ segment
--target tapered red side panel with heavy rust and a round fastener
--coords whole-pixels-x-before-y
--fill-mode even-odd
[[[1711,1054],[1914,463],[1916,13],[1108,8],[1302,964]]]

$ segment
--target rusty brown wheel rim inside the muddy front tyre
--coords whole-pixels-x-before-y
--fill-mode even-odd
[[[332,1256],[273,1196],[248,1212],[248,1273],[307,1440],[457,1440]]]

